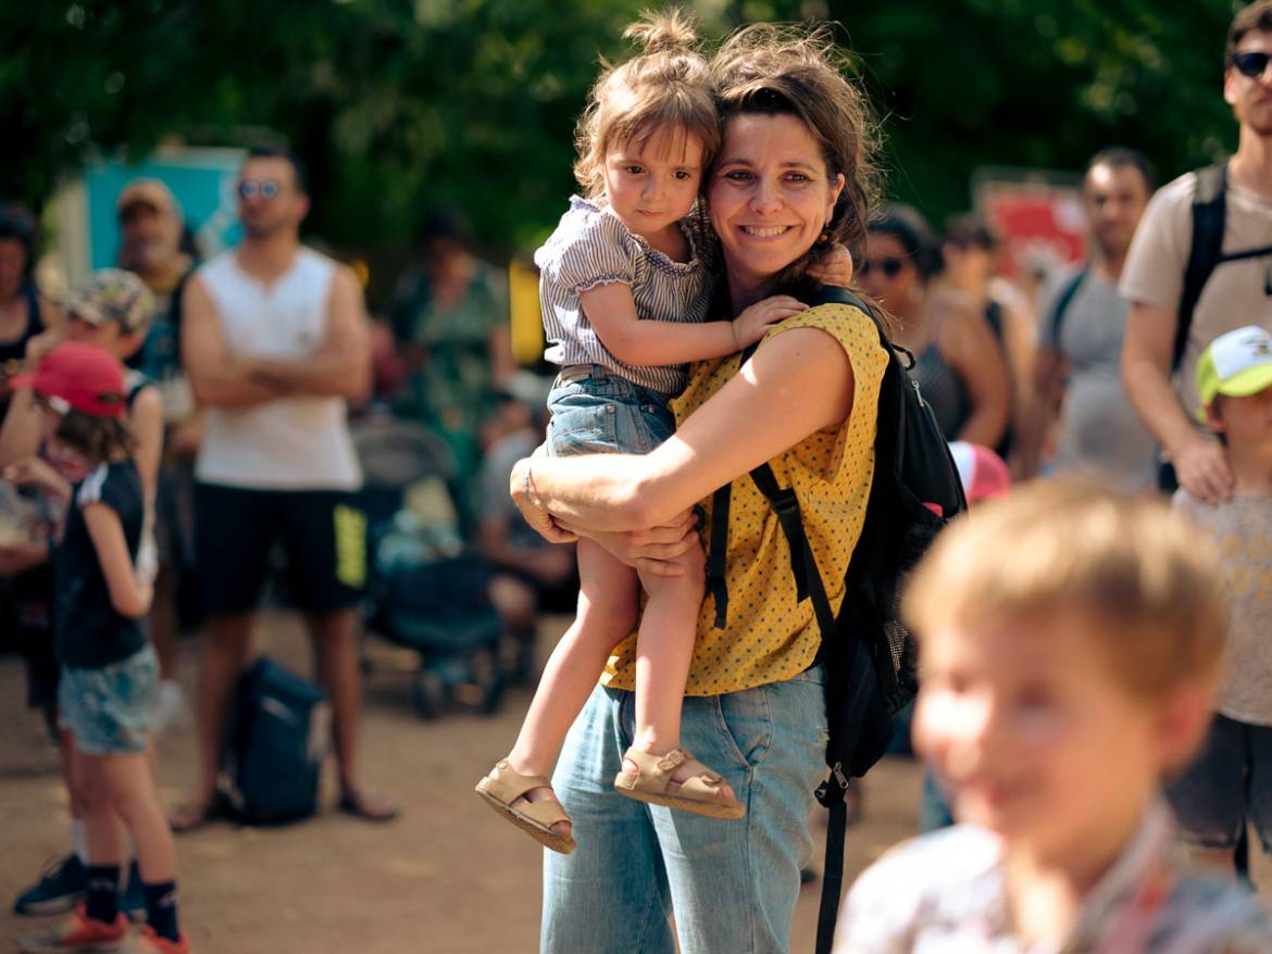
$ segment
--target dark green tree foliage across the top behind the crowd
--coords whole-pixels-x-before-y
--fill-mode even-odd
[[[313,232],[401,253],[463,209],[492,253],[572,190],[572,126],[640,0],[0,0],[0,196],[39,205],[94,153],[266,130],[310,164]],[[1229,0],[702,0],[709,37],[837,20],[883,120],[889,191],[941,218],[985,164],[1079,169],[1105,145],[1168,174],[1235,144]]]

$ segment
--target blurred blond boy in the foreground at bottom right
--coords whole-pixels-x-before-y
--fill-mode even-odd
[[[869,869],[836,950],[1272,950],[1255,899],[1184,868],[1160,798],[1206,731],[1227,625],[1186,520],[1027,486],[937,541],[907,612],[916,744],[962,824]]]

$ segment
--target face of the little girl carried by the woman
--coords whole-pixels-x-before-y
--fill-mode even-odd
[[[689,214],[702,184],[702,142],[681,130],[656,130],[605,154],[605,200],[623,225],[655,235]]]

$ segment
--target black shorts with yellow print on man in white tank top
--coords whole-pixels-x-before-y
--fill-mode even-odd
[[[195,523],[202,609],[209,616],[256,608],[275,543],[286,555],[287,593],[298,609],[347,609],[361,598],[366,516],[356,494],[198,483]]]

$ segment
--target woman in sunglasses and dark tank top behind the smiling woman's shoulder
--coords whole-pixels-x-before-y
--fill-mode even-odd
[[[923,216],[885,206],[870,223],[857,276],[897,319],[893,341],[915,355],[911,375],[949,440],[995,446],[1010,411],[1002,349],[985,318],[931,286],[936,247]]]

